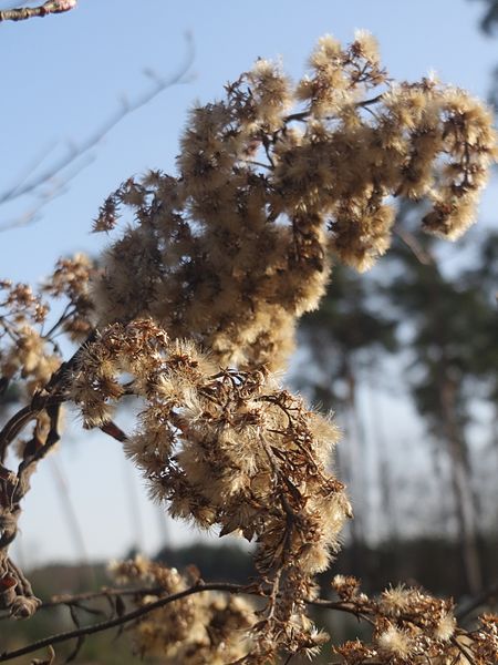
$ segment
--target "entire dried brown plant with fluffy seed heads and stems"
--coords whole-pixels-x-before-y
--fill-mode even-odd
[[[403,587],[372,600],[353,579],[335,577],[338,601],[318,597],[314,576],[352,510],[331,468],[333,421],[278,375],[332,258],[364,270],[388,249],[397,197],[425,200],[423,226],[442,237],[474,222],[497,156],[490,113],[434,78],[393,82],[365,32],[347,48],[322,38],[297,84],[259,60],[225,93],[191,111],[176,177],[151,172],[104,202],[96,232],[112,232],[123,208],[134,223],[114,232],[98,269],[83,256],[59,263],[43,290],[68,305],[49,330],[43,294],[1,284],[2,385],[22,379],[27,406],[0,432],[2,462],[14,441],[21,458],[18,472],[0,467],[0,602],[13,616],[40,604],[8,549],[64,402],[123,442],[173,516],[256,542],[258,579],[210,589],[143,559],[115,564],[120,580],[152,585],[134,610],[0,662],[132,621],[137,651],[164,662],[289,662],[326,642],[308,614],[319,605],[373,626],[371,644],[335,647],[344,663],[491,663],[491,616],[464,631],[449,601]],[[65,362],[61,330],[83,340]],[[129,396],[141,409],[125,434],[114,413]]]

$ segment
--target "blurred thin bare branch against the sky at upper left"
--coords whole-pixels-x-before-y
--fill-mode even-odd
[[[10,187],[0,192],[0,205],[10,203],[22,196],[33,195],[39,198],[38,203],[29,208],[21,216],[0,224],[0,232],[8,231],[17,226],[25,226],[37,219],[41,208],[48,203],[65,192],[68,184],[91,162],[94,156],[89,152],[95,147],[117,124],[125,117],[135,113],[143,106],[147,105],[160,93],[173,85],[187,83],[190,79],[187,76],[195,58],[194,41],[189,33],[186,33],[187,49],[184,62],[178,70],[163,78],[151,69],[144,70],[144,73],[151,80],[151,86],[139,94],[135,100],[128,101],[122,98],[122,103],[114,113],[112,113],[104,122],[91,133],[84,141],[76,144],[70,144],[68,151],[58,160],[53,161],[49,166],[39,172],[37,171],[46,160],[50,153],[54,150],[54,145],[49,145],[43,153],[33,157],[32,163],[27,167],[24,174],[18,178],[18,182]],[[83,161],[80,161],[84,157]],[[70,170],[68,172],[66,170]],[[60,181],[58,182],[58,176]],[[45,185],[51,185],[48,191],[41,188]]]

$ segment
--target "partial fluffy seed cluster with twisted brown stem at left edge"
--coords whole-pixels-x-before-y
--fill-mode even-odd
[[[30,478],[60,439],[61,405],[68,395],[56,335],[64,332],[72,340],[89,336],[92,272],[89,259],[76,255],[58,263],[41,294],[25,284],[0,283],[0,397],[13,382],[19,396],[29,401],[0,430],[0,608],[18,618],[31,616],[40,601],[9,557],[9,545],[18,532]],[[55,320],[50,320],[46,295],[64,301]],[[22,430],[31,422],[31,434],[22,438]],[[17,472],[4,466],[13,442],[20,458]]]

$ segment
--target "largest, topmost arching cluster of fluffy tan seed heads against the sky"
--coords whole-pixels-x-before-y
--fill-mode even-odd
[[[124,183],[101,208],[136,225],[95,284],[101,324],[152,316],[221,365],[284,364],[297,317],[314,308],[331,253],[363,270],[390,246],[394,200],[426,198],[424,227],[456,238],[496,156],[490,113],[433,79],[393,83],[375,40],[325,37],[292,84],[259,60],[195,108],[178,177]]]

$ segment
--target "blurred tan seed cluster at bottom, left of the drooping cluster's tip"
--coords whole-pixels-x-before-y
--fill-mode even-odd
[[[142,556],[114,562],[112,575],[120,584],[145,582],[160,589],[157,595],[137,598],[143,606],[197,583],[195,574],[181,575]],[[251,648],[249,628],[255,624],[255,608],[240,596],[204,592],[193,594],[155,610],[133,630],[135,651],[160,657],[160,663],[185,665],[225,665],[242,658]]]

